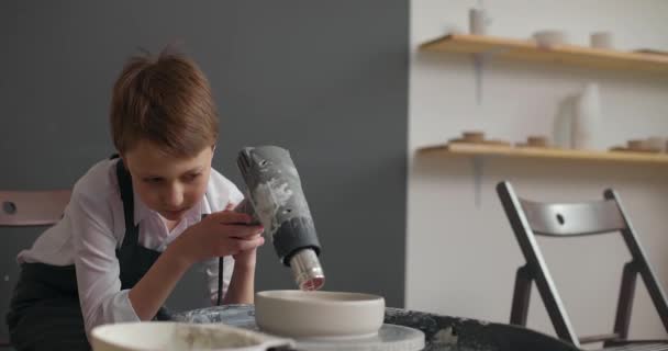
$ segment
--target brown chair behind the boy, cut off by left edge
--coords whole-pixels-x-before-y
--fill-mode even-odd
[[[51,226],[63,217],[71,191],[2,191],[0,190],[0,227]],[[1,316],[4,320],[4,316]],[[10,347],[0,339],[0,348]]]

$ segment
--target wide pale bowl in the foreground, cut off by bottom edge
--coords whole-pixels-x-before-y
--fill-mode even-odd
[[[255,351],[293,342],[225,325],[172,321],[121,322],[91,331],[93,351]]]

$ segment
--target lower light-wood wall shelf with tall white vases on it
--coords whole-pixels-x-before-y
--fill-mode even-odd
[[[450,143],[448,145],[423,147],[417,149],[417,154],[435,156],[500,156],[513,158],[569,159],[584,161],[668,165],[668,155],[666,154],[630,151],[583,151],[571,149],[509,147],[465,143]]]

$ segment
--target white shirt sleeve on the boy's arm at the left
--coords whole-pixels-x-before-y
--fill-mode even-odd
[[[121,291],[119,239],[113,235],[112,194],[73,193],[70,201],[75,267],[81,313],[89,333],[93,327],[120,321],[138,321],[129,298]]]

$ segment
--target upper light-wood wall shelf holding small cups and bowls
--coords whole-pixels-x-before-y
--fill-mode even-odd
[[[533,41],[520,41],[494,36],[450,34],[420,46],[422,50],[467,54],[494,54],[494,56],[546,63],[668,73],[668,56],[591,48],[576,45],[539,47]]]

